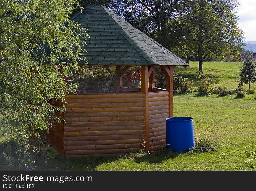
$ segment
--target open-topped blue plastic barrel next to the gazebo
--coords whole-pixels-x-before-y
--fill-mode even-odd
[[[166,120],[166,145],[175,152],[186,152],[195,146],[192,117],[170,117]]]

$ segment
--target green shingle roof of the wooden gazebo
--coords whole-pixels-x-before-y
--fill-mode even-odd
[[[72,20],[88,29],[83,48],[90,65],[188,65],[102,5],[88,5]]]

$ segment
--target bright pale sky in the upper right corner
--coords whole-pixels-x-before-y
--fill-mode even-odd
[[[240,0],[238,27],[246,33],[245,41],[256,41],[256,0]]]

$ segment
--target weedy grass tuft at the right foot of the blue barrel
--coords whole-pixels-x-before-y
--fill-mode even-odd
[[[195,147],[192,151],[195,152],[211,152],[218,148],[218,140],[211,135],[195,134]]]

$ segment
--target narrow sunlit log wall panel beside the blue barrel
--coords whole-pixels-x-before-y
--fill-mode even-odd
[[[169,92],[149,93],[149,150],[166,144],[166,122],[169,117]]]

